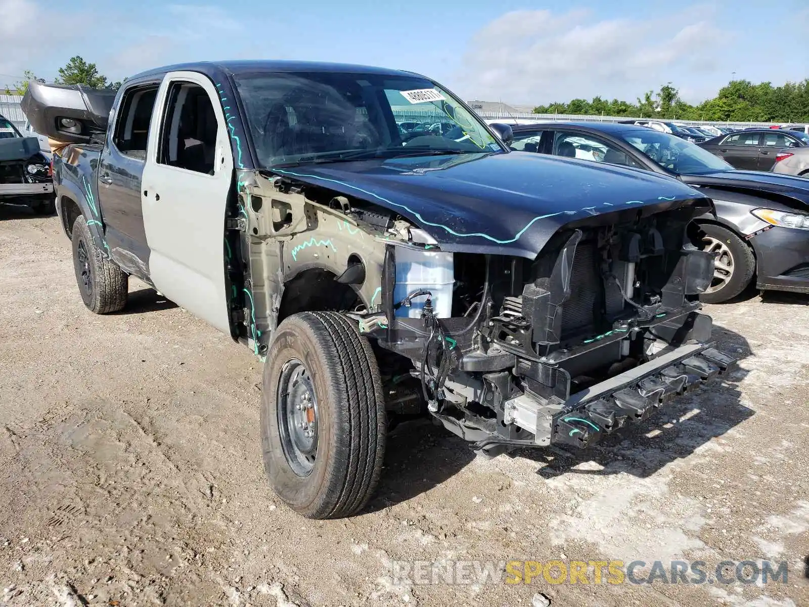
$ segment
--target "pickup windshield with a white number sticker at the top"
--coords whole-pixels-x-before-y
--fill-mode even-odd
[[[236,87],[263,168],[505,151],[449,91],[418,76],[256,74]]]

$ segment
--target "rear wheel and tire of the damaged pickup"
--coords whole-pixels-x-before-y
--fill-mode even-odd
[[[84,305],[96,314],[122,310],[129,291],[129,277],[95,246],[84,215],[76,218],[71,235],[73,266]]]

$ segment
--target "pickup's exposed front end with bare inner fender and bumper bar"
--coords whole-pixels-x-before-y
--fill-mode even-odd
[[[446,250],[373,202],[245,173],[238,337],[260,353],[297,309],[340,310],[375,346],[391,418],[429,411],[490,454],[587,447],[733,363],[699,312],[714,259],[691,220],[706,204],[574,219],[527,258]]]

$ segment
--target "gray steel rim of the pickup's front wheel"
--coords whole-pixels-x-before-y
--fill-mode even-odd
[[[315,468],[318,406],[315,386],[299,359],[288,360],[277,388],[277,421],[281,447],[292,471],[306,478]]]

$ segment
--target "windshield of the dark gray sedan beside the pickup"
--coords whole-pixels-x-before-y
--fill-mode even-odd
[[[700,175],[733,169],[718,156],[673,135],[654,130],[631,130],[618,136],[661,167],[680,175]]]

